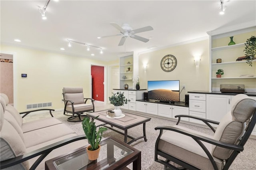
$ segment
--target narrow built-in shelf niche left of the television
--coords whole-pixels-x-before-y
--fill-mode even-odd
[[[125,84],[129,85],[129,89],[133,87],[133,55],[120,57],[120,89],[124,88]],[[128,69],[130,68],[130,69]]]

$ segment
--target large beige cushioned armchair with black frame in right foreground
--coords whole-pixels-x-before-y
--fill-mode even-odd
[[[247,95],[239,94],[231,101],[231,111],[220,121],[210,121],[190,115],[177,115],[198,119],[210,127],[214,135],[207,135],[188,128],[156,127],[160,134],[155,145],[155,161],[165,168],[178,170],[228,170],[236,156],[244,150],[256,123],[256,101]],[[217,124],[216,130],[210,123]],[[162,160],[162,157],[166,160]],[[244,158],[246,159],[246,158]]]

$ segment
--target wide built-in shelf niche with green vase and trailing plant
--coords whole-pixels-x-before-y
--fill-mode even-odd
[[[210,75],[209,91],[220,91],[223,84],[245,85],[246,92],[256,92],[256,60],[252,67],[246,60],[236,61],[238,57],[245,56],[244,43],[251,36],[256,36],[255,24],[250,27],[233,30],[207,32],[210,36]],[[235,45],[228,45],[233,36]],[[221,59],[221,63],[217,63]],[[223,69],[224,75],[216,78],[216,71]]]

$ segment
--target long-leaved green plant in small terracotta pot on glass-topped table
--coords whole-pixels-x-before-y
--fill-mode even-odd
[[[97,119],[97,117],[94,119]],[[97,131],[94,119],[90,121],[90,118],[86,117],[82,122],[84,133],[90,144],[86,148],[89,160],[96,160],[99,157],[102,133],[107,130],[106,127],[99,127]]]

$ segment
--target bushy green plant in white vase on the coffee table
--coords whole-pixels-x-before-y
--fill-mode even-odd
[[[123,106],[124,104],[127,104],[127,100],[124,96],[124,92],[122,93],[117,92],[117,93],[112,93],[113,95],[111,97],[108,97],[110,103],[112,105],[114,105],[114,112],[115,112],[115,116],[121,116],[122,115],[122,111],[120,109],[120,106]]]

